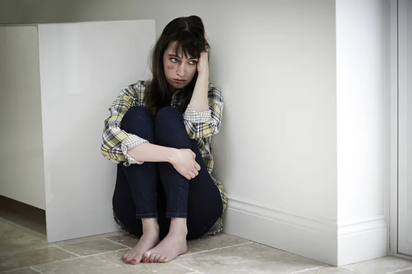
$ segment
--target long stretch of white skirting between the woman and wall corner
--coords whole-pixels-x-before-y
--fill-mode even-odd
[[[225,233],[326,264],[336,264],[336,223],[307,219],[231,199]]]

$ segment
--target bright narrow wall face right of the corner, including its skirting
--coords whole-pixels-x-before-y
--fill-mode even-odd
[[[386,11],[336,0],[339,264],[386,254]]]

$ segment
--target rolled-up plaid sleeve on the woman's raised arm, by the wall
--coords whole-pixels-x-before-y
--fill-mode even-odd
[[[209,110],[198,112],[189,104],[183,113],[187,134],[192,139],[213,136],[220,131],[224,105],[222,93],[209,84],[207,98]]]

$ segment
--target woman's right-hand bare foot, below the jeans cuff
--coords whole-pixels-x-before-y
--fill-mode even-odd
[[[143,262],[170,262],[177,256],[187,252],[186,219],[172,218],[167,236],[155,248],[143,256]]]

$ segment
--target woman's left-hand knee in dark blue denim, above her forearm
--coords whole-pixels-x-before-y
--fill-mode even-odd
[[[122,118],[120,128],[129,134],[135,134],[152,142],[153,122],[148,109],[134,106]]]

